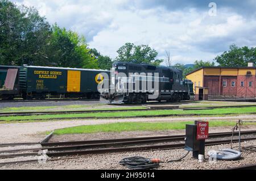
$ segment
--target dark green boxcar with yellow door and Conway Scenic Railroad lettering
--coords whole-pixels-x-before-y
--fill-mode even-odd
[[[20,92],[24,99],[44,99],[47,94],[98,98],[97,78],[100,73],[109,75],[110,71],[22,66],[19,72]]]

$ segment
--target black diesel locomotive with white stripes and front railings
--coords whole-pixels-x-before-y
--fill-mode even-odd
[[[101,103],[113,104],[146,103],[151,100],[180,102],[189,100],[191,94],[193,83],[183,80],[181,70],[118,62],[113,64],[109,82],[102,86],[100,100]]]

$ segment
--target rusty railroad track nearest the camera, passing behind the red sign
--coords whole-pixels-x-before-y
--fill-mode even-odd
[[[242,132],[245,134],[255,134],[256,131]],[[231,136],[232,133],[213,133],[210,138]],[[237,133],[236,133],[237,135]],[[242,141],[256,140],[256,137],[243,138]],[[177,141],[184,141],[183,136],[162,136],[162,137],[143,137],[143,138],[126,138],[118,140],[92,140],[92,141],[78,141],[78,142],[56,142],[56,143],[42,143],[42,148],[36,149],[16,149],[16,150],[2,150],[0,151],[0,159],[10,159],[16,157],[38,157],[42,150],[47,150],[46,155],[51,158],[65,157],[74,155],[88,155],[88,154],[107,154],[107,153],[121,153],[127,151],[148,151],[148,150],[168,150],[184,148],[184,143],[177,143]],[[231,140],[214,140],[206,142],[207,146],[229,144]],[[170,142],[176,142],[170,144]],[[238,140],[233,140],[238,142]],[[169,144],[168,144],[169,143]],[[36,143],[35,143],[36,144]],[[38,143],[37,143],[38,144]],[[156,145],[158,144],[158,145]],[[6,146],[15,146],[10,144]],[[31,143],[29,144],[31,145]],[[3,145],[2,145],[3,146]],[[6,154],[8,153],[8,154]],[[36,159],[27,161],[3,162],[0,165],[8,165],[15,163],[36,162]]]

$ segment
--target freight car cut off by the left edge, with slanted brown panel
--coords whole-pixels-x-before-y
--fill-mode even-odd
[[[0,98],[2,100],[13,99],[19,94],[18,66],[0,66]]]

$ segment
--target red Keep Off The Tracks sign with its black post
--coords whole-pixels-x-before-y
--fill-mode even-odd
[[[209,122],[195,121],[196,140],[199,141],[199,150],[193,151],[193,157],[198,159],[199,155],[205,157],[205,140],[209,138]]]

